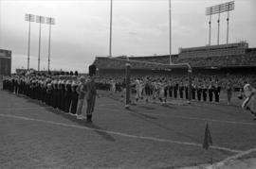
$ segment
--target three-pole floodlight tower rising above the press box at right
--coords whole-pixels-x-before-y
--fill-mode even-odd
[[[229,11],[234,9],[234,1],[230,1],[228,3],[212,6],[209,8],[206,8],[206,15],[210,15],[210,22],[211,22],[211,15],[212,14],[218,14],[218,36],[217,36],[217,44],[219,44],[219,37],[220,37],[220,14],[222,12],[228,12],[228,18],[227,18],[227,43],[229,42]],[[210,25],[209,22],[209,25]],[[209,44],[210,44],[210,35],[209,35]]]

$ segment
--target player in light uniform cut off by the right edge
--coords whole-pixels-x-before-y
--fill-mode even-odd
[[[250,84],[246,84],[244,93],[247,98],[243,102],[242,108],[249,110],[253,115],[253,120],[256,120],[256,90]]]

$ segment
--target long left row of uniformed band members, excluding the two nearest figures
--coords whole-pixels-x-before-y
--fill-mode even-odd
[[[72,114],[77,111],[79,85],[77,76],[10,76],[3,79],[3,90],[27,95]]]

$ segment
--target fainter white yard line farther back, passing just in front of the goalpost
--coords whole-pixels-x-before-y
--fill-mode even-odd
[[[107,109],[107,108],[97,108],[96,110],[112,110],[112,109]],[[120,111],[120,110],[113,110],[113,111]],[[124,110],[130,113],[136,113],[136,112],[132,112],[129,110]],[[141,113],[139,112],[139,114],[143,114],[143,115],[155,115],[155,116],[159,116],[159,117],[174,117],[174,118],[182,118],[182,119],[189,119],[189,120],[201,120],[201,121],[208,121],[208,122],[217,122],[217,123],[226,123],[226,124],[233,124],[233,125],[247,125],[247,126],[256,126],[256,123],[248,123],[248,122],[235,122],[235,121],[225,121],[225,120],[214,120],[214,119],[208,119],[208,118],[198,118],[198,117],[186,117],[186,116],[181,116],[181,115],[164,115],[164,114],[156,114],[156,113]]]

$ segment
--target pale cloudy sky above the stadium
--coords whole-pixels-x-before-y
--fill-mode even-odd
[[[172,0],[172,54],[180,47],[209,42],[206,8],[227,0]],[[95,57],[109,54],[110,0],[0,0],[0,48],[12,51],[11,71],[27,68],[25,14],[53,17],[51,70],[87,73]],[[235,0],[229,13],[229,42],[256,47],[256,1]],[[220,18],[220,43],[226,42],[227,13]],[[217,15],[211,44],[217,43]],[[113,0],[112,55],[169,55],[169,0]],[[49,25],[42,25],[41,70],[47,70]],[[37,70],[39,24],[31,23],[30,68]]]

